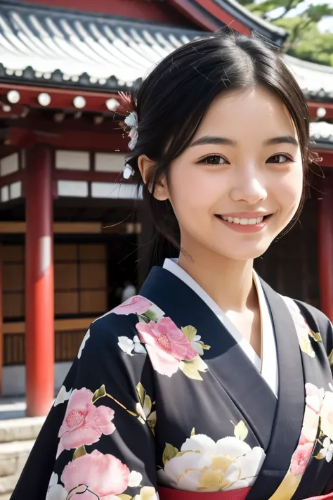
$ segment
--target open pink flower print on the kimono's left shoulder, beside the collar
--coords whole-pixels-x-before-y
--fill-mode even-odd
[[[136,329],[141,342],[150,356],[153,368],[171,377],[178,370],[181,361],[190,361],[197,356],[186,335],[171,318],[161,318],[156,323],[137,323]]]

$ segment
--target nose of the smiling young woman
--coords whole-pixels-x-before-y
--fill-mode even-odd
[[[237,179],[237,183],[230,191],[233,201],[244,201],[249,205],[255,205],[266,200],[267,191],[262,179],[256,174],[243,174]]]

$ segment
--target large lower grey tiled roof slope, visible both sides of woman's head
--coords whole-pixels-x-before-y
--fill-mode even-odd
[[[0,80],[130,89],[164,56],[205,35],[199,30],[2,0]],[[283,57],[306,98],[333,101],[333,68]]]

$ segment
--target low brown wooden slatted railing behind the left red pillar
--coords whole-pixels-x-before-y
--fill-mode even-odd
[[[55,320],[55,361],[73,361],[95,318]],[[25,364],[25,323],[4,323],[4,366]]]

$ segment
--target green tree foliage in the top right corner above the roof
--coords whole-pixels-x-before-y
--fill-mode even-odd
[[[303,0],[263,0],[259,3],[240,0],[240,4],[250,11],[289,33],[285,52],[299,59],[333,66],[333,32],[322,33],[318,30],[319,21],[333,15],[333,8],[328,4],[306,6],[301,14],[292,17],[289,13],[297,6],[301,8],[302,3]]]

